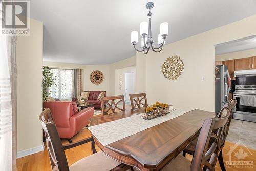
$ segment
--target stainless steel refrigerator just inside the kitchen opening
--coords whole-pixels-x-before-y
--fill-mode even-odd
[[[215,112],[219,113],[225,103],[228,102],[228,94],[231,87],[231,78],[226,65],[215,67]]]

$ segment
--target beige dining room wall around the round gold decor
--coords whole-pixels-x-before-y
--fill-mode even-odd
[[[145,75],[148,101],[160,100],[177,106],[214,111],[215,45],[255,35],[255,21],[256,15],[165,45],[160,53],[148,53],[145,64],[137,63],[137,58],[142,60],[144,54],[136,53],[136,73],[141,77],[137,80],[143,80]],[[184,72],[176,81],[169,81],[163,77],[161,65],[173,55],[181,56]],[[205,81],[201,81],[202,76]],[[143,91],[143,85],[140,91]]]

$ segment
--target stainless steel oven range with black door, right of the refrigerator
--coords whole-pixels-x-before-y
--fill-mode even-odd
[[[234,108],[234,119],[256,122],[256,70],[235,71],[235,91],[238,101]]]

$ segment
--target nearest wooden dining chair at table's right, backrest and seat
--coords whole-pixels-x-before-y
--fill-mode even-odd
[[[221,140],[224,135],[225,126],[229,122],[229,115],[230,112],[225,107],[220,112],[221,117],[208,118],[204,121],[192,161],[182,155],[178,155],[162,170],[214,170],[221,151]]]

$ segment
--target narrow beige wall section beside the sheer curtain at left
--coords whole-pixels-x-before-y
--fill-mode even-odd
[[[42,128],[42,22],[30,20],[30,36],[17,36],[17,151],[40,146]]]

